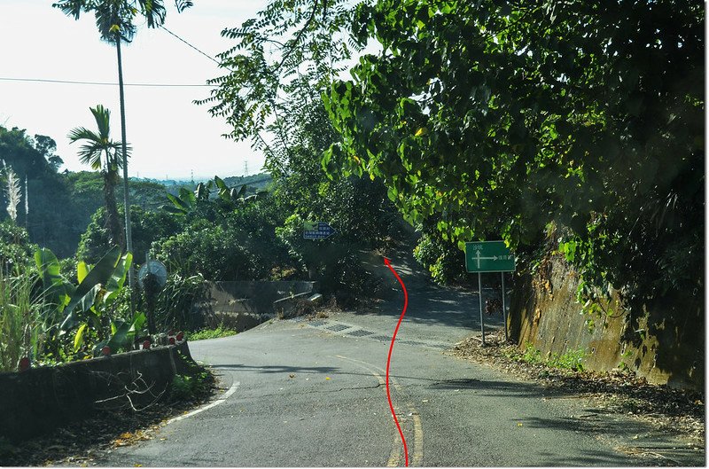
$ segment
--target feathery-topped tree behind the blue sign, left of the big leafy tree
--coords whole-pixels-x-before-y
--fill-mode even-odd
[[[347,0],[269,2],[241,27],[222,31],[235,40],[219,55],[229,72],[211,80],[211,98],[199,101],[226,119],[229,137],[250,139],[264,152],[285,216],[279,238],[301,268],[333,291],[354,286],[357,250],[382,241],[397,222],[380,181],[329,176],[320,161],[340,139],[321,94],[361,49],[347,41],[352,8]],[[303,239],[303,223],[318,220],[337,235]]]

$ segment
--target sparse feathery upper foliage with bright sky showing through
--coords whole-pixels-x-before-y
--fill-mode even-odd
[[[210,80],[216,87],[212,95],[196,103],[212,106],[213,116],[226,119],[229,137],[250,139],[264,150],[268,166],[277,151],[261,134],[289,137],[282,119],[292,93],[319,94],[351,59],[352,51],[362,49],[339,34],[351,24],[354,8],[348,0],[269,2],[256,18],[222,31],[235,41],[234,47],[218,55],[229,74]],[[312,108],[316,103],[298,105]],[[276,122],[269,124],[271,120]]]

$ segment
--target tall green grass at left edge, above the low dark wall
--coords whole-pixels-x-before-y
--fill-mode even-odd
[[[0,268],[0,371],[15,371],[23,356],[43,353],[44,304],[36,296],[29,275]]]

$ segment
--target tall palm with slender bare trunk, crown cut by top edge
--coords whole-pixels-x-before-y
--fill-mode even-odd
[[[136,35],[136,16],[145,19],[148,27],[161,27],[165,22],[165,5],[162,0],[59,0],[51,6],[58,8],[74,20],[83,13],[93,12],[101,40],[116,46],[118,59],[118,88],[121,98],[121,160],[123,167],[123,204],[126,209],[126,249],[133,252],[133,238],[130,230],[130,210],[128,191],[128,153],[126,151],[126,112],[123,97],[123,66],[121,42],[130,43]],[[191,0],[175,0],[177,12],[192,6]],[[134,286],[133,270],[129,270],[129,286]]]

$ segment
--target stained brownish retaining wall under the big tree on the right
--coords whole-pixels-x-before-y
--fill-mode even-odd
[[[704,387],[704,301],[688,294],[682,303],[645,311],[638,329],[630,331],[633,345],[621,340],[628,313],[618,293],[602,305],[609,314],[589,316],[576,302],[578,285],[578,274],[558,254],[549,255],[534,276],[517,278],[508,324],[520,348],[532,343],[547,356],[581,349],[589,370],[627,367],[652,383]]]

